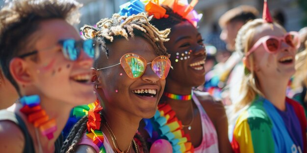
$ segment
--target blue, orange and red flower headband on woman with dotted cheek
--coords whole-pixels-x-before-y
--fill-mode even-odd
[[[182,18],[188,20],[196,27],[197,22],[203,17],[203,14],[198,14],[194,10],[194,6],[197,3],[198,0],[192,0],[190,3],[188,3],[187,0],[130,0],[120,6],[119,14],[130,16],[141,12],[147,12],[156,19],[168,18],[165,8],[161,6],[165,5],[172,8],[175,13],[179,14]]]

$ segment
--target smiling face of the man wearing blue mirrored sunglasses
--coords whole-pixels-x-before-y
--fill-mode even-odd
[[[63,56],[62,47],[54,45],[63,39],[81,40],[72,25],[60,19],[43,21],[40,23],[40,29],[33,33],[30,39],[35,42],[33,48],[36,50],[54,47],[23,59],[23,66],[26,66],[30,75],[27,76],[26,82],[15,79],[20,86],[25,85],[22,93],[39,94],[42,101],[52,100],[52,107],[75,107],[95,100],[93,84],[90,82],[93,59],[82,50],[76,61],[70,61]]]

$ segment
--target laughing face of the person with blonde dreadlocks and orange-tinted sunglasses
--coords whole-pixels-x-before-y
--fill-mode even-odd
[[[101,56],[99,67],[113,66],[127,53],[142,56],[147,62],[156,55],[153,46],[142,37],[116,39],[107,44],[109,58]],[[165,80],[161,80],[148,64],[144,74],[136,79],[126,75],[122,66],[113,66],[96,72],[98,75],[98,94],[102,97],[107,111],[125,113],[140,118],[153,117],[162,96]],[[116,92],[117,91],[117,92]]]

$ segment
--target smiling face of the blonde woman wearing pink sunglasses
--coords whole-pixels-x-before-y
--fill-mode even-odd
[[[285,30],[274,24],[265,23],[256,28],[253,44],[260,38],[270,35],[283,37]],[[252,46],[251,45],[251,46]],[[282,41],[280,49],[276,53],[268,53],[261,44],[253,53],[254,67],[256,75],[264,77],[286,77],[290,78],[295,73],[295,54],[296,48],[293,48]]]

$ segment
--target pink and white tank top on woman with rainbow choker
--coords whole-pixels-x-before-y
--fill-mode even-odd
[[[219,153],[215,127],[195,94],[192,95],[192,98],[200,112],[203,131],[202,143],[195,148],[194,153]]]

